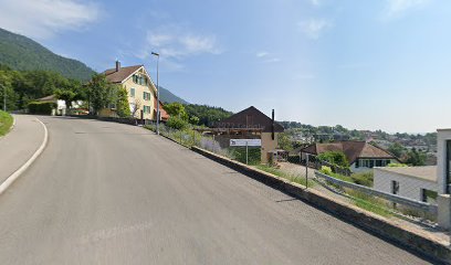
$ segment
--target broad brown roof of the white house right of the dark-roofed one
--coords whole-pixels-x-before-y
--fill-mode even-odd
[[[382,158],[382,159],[397,159],[388,151],[369,145],[365,141],[336,141],[329,144],[313,144],[304,149],[302,152],[319,155],[326,151],[343,151],[349,161],[354,163],[357,158]]]

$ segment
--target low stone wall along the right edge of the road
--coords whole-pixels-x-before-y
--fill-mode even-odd
[[[282,179],[277,176],[253,169],[208,150],[198,147],[192,147],[191,150],[226,167],[234,169],[273,189],[298,198],[340,220],[349,222],[369,233],[373,233],[378,237],[388,240],[395,244],[399,244],[402,247],[420,254],[423,257],[428,257],[443,264],[451,264],[451,247],[432,239],[428,239],[427,235],[421,235],[413,231],[406,230],[400,225],[371,212],[345,202],[335,201],[333,198],[329,198],[318,191],[306,189],[304,186],[292,183],[291,181]]]

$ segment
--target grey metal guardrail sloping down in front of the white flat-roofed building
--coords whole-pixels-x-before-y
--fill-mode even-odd
[[[370,195],[375,195],[375,197],[379,197],[379,198],[384,198],[388,201],[395,202],[395,203],[399,203],[399,204],[403,204],[407,206],[411,206],[424,212],[429,212],[431,214],[437,215],[438,214],[438,206],[430,204],[430,203],[426,203],[426,202],[421,202],[421,201],[416,201],[409,198],[405,198],[405,197],[400,197],[400,195],[395,195],[391,193],[387,193],[384,191],[378,191],[378,190],[374,190],[371,188],[365,187],[365,186],[360,186],[360,184],[355,184],[355,183],[349,183],[339,179],[335,179],[331,176],[324,174],[322,172],[315,171],[315,176],[316,178],[322,178],[325,179],[332,183],[338,184],[340,187],[345,187],[345,188],[349,188],[353,190],[357,190],[357,191],[361,191],[366,194],[370,194]]]

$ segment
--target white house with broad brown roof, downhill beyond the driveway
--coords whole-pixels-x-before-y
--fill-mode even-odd
[[[388,151],[365,141],[313,144],[301,149],[301,157],[306,159],[306,155],[317,156],[327,151],[345,153],[350,166],[350,171],[353,172],[368,171],[374,167],[385,167],[389,163],[399,162],[398,159]]]

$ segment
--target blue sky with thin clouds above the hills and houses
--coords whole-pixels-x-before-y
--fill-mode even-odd
[[[0,28],[195,104],[350,129],[451,128],[449,0],[0,0]]]

